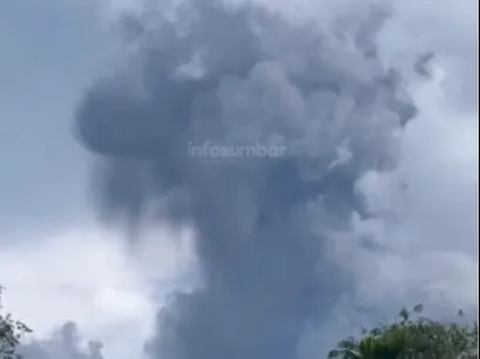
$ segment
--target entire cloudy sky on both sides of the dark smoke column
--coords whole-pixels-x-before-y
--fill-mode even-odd
[[[352,1],[261,0],[320,27],[339,16],[348,23],[371,2]],[[418,113],[398,133],[398,164],[356,179],[355,193],[375,216],[352,213],[348,229],[326,242],[350,294],[305,336],[305,352],[403,304],[423,301],[439,315],[473,310],[477,300],[478,4],[390,3],[379,57],[401,72]],[[116,20],[138,8],[128,0],[0,2],[0,283],[5,308],[34,329],[27,359],[100,358],[88,354],[89,340],[103,343],[105,359],[147,358],[157,311],[174,288],[195,282],[189,228],[162,222],[132,255],[124,233],[98,220],[95,158],[73,131],[85,89],[123,61]],[[427,80],[407,68],[422,51],[435,53]],[[360,73],[357,65],[345,62]],[[78,344],[60,333],[68,321]]]

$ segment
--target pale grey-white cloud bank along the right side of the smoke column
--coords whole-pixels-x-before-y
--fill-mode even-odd
[[[351,231],[332,237],[332,255],[356,289],[320,332],[327,342],[403,305],[423,302],[447,317],[478,310],[478,3],[395,6],[380,55],[402,70],[419,113],[402,131],[398,167],[357,182],[374,218],[353,216]],[[422,82],[406,66],[430,50],[433,78]]]

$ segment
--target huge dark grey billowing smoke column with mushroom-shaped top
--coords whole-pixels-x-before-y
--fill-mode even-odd
[[[377,58],[386,16],[320,33],[199,0],[153,29],[126,19],[132,62],[77,114],[99,205],[132,236],[146,218],[193,225],[203,278],[159,314],[150,358],[297,358],[345,292],[326,238],[361,213],[356,179],[393,165],[415,112]]]

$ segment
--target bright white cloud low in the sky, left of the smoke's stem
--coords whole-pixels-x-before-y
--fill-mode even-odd
[[[71,320],[83,338],[104,343],[107,358],[139,358],[161,306],[154,295],[186,268],[188,236],[156,231],[135,256],[121,236],[88,230],[2,248],[5,307],[36,339]]]

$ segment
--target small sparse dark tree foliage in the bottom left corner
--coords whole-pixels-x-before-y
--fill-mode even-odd
[[[17,353],[21,338],[31,333],[23,322],[13,319],[10,313],[2,311],[2,296],[4,289],[0,286],[0,359],[20,359]]]

